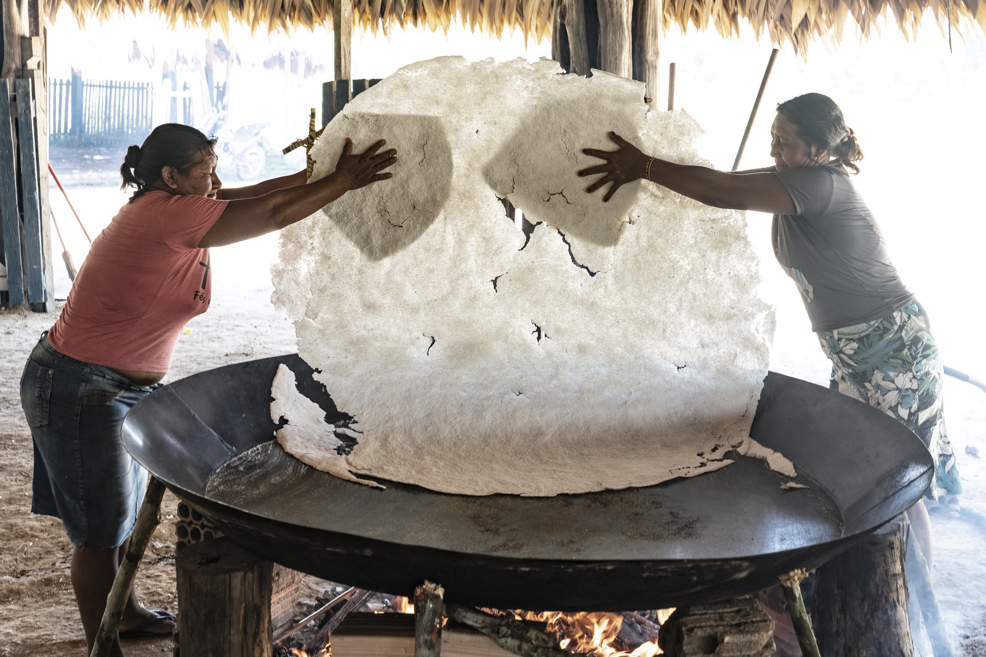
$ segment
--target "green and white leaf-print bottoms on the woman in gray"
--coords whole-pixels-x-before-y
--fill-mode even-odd
[[[832,384],[918,434],[935,459],[925,496],[962,492],[942,404],[942,361],[928,316],[911,301],[872,322],[818,333]]]

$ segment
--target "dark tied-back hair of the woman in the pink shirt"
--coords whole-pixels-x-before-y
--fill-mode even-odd
[[[137,188],[130,197],[133,203],[149,185],[161,179],[161,169],[165,166],[174,166],[178,173],[186,175],[192,166],[202,162],[201,156],[216,155],[216,141],[190,125],[163,123],[151,131],[143,146],[135,144],[126,150],[120,166],[123,176],[120,189]]]

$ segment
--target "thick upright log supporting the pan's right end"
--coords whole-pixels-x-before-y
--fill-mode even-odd
[[[897,517],[818,568],[812,614],[822,655],[913,654],[906,527]]]

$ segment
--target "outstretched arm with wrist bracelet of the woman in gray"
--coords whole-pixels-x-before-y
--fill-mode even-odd
[[[605,164],[579,171],[579,175],[583,176],[602,174],[586,189],[590,194],[612,183],[602,197],[603,201],[608,201],[620,186],[639,178],[648,178],[671,191],[716,208],[754,210],[774,215],[793,215],[796,212],[791,195],[773,173],[738,175],[706,166],[673,164],[644,155],[615,132],[610,132],[609,138],[619,149],[584,149],[583,153],[604,160]]]

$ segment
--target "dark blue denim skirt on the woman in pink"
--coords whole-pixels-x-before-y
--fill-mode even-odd
[[[58,353],[41,334],[21,377],[35,443],[32,513],[60,518],[73,545],[115,548],[133,531],[145,471],[123,449],[120,427],[155,386]]]

